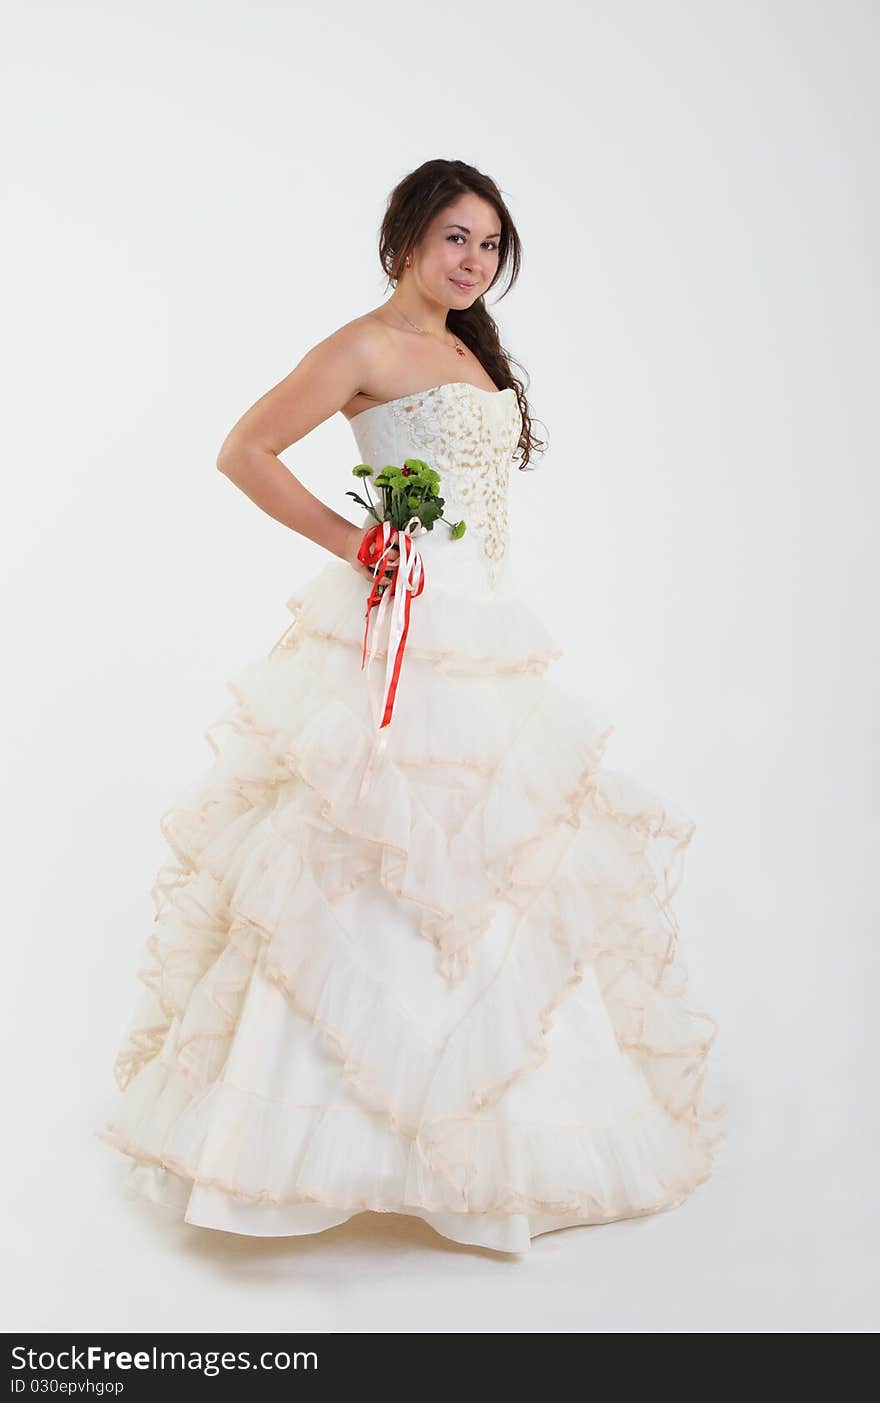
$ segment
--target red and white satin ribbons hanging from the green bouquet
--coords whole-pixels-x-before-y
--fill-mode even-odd
[[[371,662],[376,652],[376,634],[379,631],[379,626],[389,609],[389,599],[392,600],[383,711],[382,720],[379,721],[380,730],[389,724],[394,710],[394,697],[397,694],[397,683],[400,680],[403,650],[410,630],[410,603],[425,588],[425,570],[413,540],[413,535],[418,535],[422,530],[424,528],[418,516],[411,516],[401,529],[392,526],[389,521],[376,522],[376,525],[371,526],[371,529],[365,533],[364,540],[358,547],[358,560],[373,571],[373,584],[366,599],[366,622],[364,626],[364,652],[361,657],[361,669],[366,665],[366,638],[369,634],[372,612],[378,606],[379,613],[376,615]],[[400,558],[389,561],[389,551],[394,549],[397,549]],[[382,579],[386,568],[392,571],[392,578],[385,584],[385,588],[382,588]]]

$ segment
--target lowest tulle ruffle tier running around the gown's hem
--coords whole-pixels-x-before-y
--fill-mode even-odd
[[[351,1104],[281,1103],[226,1080],[194,1096],[163,1055],[132,1085],[100,1135],[184,1186],[246,1204],[320,1204],[349,1212],[554,1215],[604,1222],[669,1207],[709,1174],[682,1174],[681,1138],[658,1107],[604,1125],[470,1120],[456,1125],[467,1198],[383,1115]],[[695,1180],[695,1169],[699,1170]]]

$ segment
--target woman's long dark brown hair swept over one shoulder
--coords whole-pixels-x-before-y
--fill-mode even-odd
[[[379,230],[379,262],[389,279],[389,285],[397,283],[407,255],[418,243],[431,220],[446,205],[451,205],[467,192],[480,195],[490,205],[494,205],[501,222],[498,269],[490,288],[507,271],[508,282],[501,297],[507,296],[519,276],[522,243],[495,182],[488,175],[483,175],[474,166],[467,166],[466,161],[424,161],[417,170],[404,175],[389,195]],[[486,290],[488,292],[488,288]],[[532,418],[525,386],[511,369],[512,365],[519,365],[519,362],[514,362],[501,345],[498,327],[486,306],[484,296],[477,297],[470,307],[451,307],[446,314],[446,325],[473,351],[500,390],[511,389],[515,391],[519,412],[522,414],[522,434],[516,446],[516,452],[522,455],[522,462],[519,463],[519,470],[522,471],[528,466],[533,452],[543,452],[546,449],[546,442],[532,434]],[[498,297],[498,302],[501,297]]]

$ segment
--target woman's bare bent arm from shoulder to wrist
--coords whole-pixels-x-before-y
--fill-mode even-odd
[[[275,521],[348,560],[356,560],[364,528],[314,497],[279,460],[347,404],[375,370],[382,328],[354,321],[313,347],[284,380],[267,390],[232,427],[218,453],[220,473]]]

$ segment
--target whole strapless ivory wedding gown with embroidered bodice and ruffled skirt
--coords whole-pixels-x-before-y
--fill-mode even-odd
[[[369,581],[345,561],[227,682],[209,767],[161,821],[95,1134],[204,1228],[372,1209],[525,1253],[710,1173],[714,1024],[686,1002],[671,905],[693,824],[604,765],[612,727],[547,675],[561,648],[511,577],[514,391],[439,384],[351,427],[376,470],[434,467],[466,532],[414,537],[390,725],[387,637],[362,666]]]

